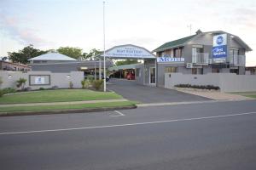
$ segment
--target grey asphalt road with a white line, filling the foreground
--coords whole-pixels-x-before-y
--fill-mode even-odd
[[[0,118],[1,169],[256,169],[256,101]]]

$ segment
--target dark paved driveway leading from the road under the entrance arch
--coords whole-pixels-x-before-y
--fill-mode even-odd
[[[125,99],[135,100],[142,103],[210,100],[193,94],[178,92],[177,90],[148,87],[138,85],[134,81],[121,79],[109,80],[107,88],[122,95]]]

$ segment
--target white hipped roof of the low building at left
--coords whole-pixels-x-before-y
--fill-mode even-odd
[[[57,60],[57,61],[76,61],[77,59],[73,59],[68,57],[67,55],[59,54],[59,53],[48,53],[39,55],[38,57],[34,57],[28,60]]]

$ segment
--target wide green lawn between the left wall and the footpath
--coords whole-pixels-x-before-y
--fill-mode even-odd
[[[45,103],[98,99],[122,99],[113,92],[95,92],[87,89],[58,89],[3,95],[0,104]]]

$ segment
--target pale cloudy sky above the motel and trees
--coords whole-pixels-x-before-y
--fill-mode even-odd
[[[0,56],[29,44],[42,50],[103,49],[102,0],[0,0]],[[253,48],[255,0],[106,0],[106,49],[135,44],[152,51],[201,31],[227,31]]]

